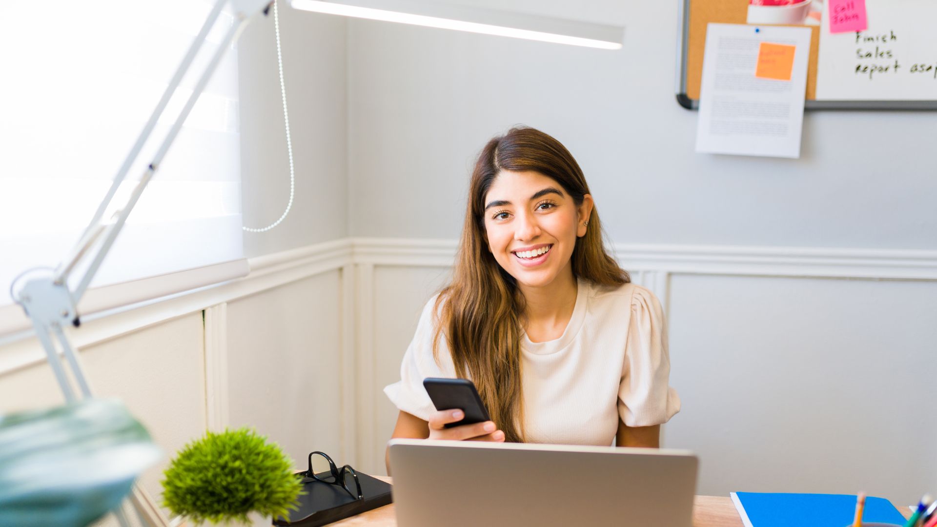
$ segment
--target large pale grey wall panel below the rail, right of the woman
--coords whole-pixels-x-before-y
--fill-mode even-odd
[[[675,275],[669,446],[700,493],[937,488],[937,281]]]

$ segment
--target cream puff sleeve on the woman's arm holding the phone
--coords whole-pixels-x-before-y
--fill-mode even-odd
[[[400,363],[400,381],[384,388],[384,393],[397,409],[416,415],[424,421],[428,421],[429,415],[436,412],[436,407],[426,394],[423,380],[426,377],[455,377],[453,359],[449,354],[445,336],[439,338],[439,363],[433,356],[433,334],[436,329],[433,320],[434,306],[436,296],[429,299],[420,315],[416,333]]]

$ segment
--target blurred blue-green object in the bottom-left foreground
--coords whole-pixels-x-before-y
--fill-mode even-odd
[[[118,400],[0,416],[0,525],[88,525],[160,455]]]

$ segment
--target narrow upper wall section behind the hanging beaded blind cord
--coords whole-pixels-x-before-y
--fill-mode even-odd
[[[346,22],[279,4],[290,112],[295,200],[268,233],[245,233],[248,257],[348,235],[346,182]],[[261,228],[290,198],[290,164],[276,65],[273,12],[247,25],[238,42],[244,220]]]

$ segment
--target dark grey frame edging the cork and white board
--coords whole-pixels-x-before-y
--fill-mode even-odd
[[[687,48],[690,45],[690,2],[677,0],[677,103],[699,110],[699,99],[687,96]],[[705,0],[695,0],[702,2]],[[937,100],[806,100],[806,110],[937,110]]]

